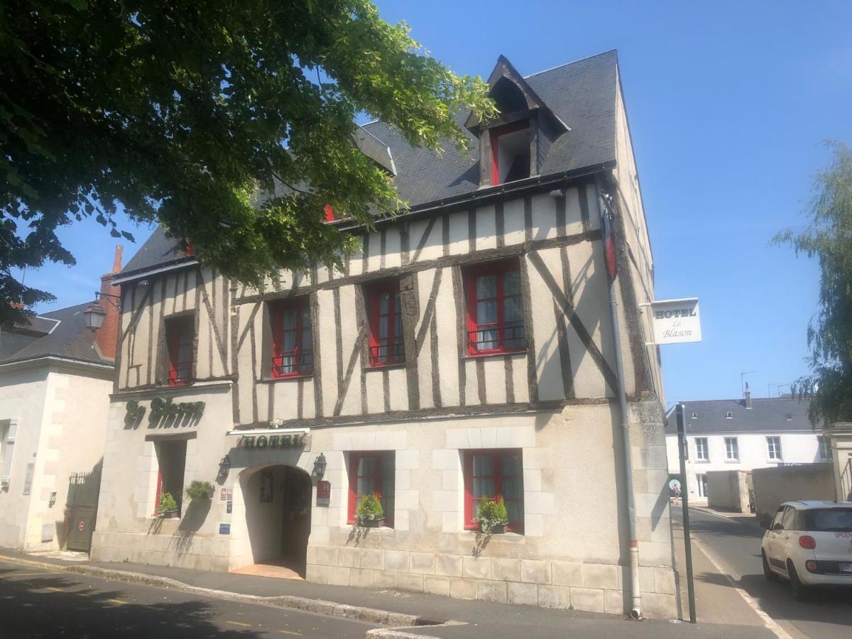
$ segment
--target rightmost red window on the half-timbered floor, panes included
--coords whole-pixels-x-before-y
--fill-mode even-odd
[[[468,354],[512,353],[527,348],[518,263],[498,262],[465,271]]]

